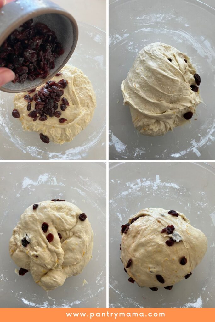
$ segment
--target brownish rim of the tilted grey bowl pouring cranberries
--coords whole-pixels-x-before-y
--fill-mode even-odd
[[[64,60],[64,62],[59,66],[59,68],[57,68],[56,70],[54,69],[52,73],[50,73],[48,75],[48,77],[46,77],[46,79],[42,79],[41,82],[39,82],[36,87],[39,87],[41,85],[43,85],[45,82],[49,81],[52,77],[54,77],[55,74],[58,73],[58,71],[60,71],[65,64],[68,62],[68,60],[70,59],[70,57],[72,56],[75,47],[77,45],[77,41],[78,41],[78,25],[76,20],[74,19],[74,17],[67,11],[65,11],[64,9],[61,9],[59,7],[58,8],[38,8],[36,9],[34,12],[32,13],[28,13],[26,15],[23,15],[22,17],[18,18],[14,24],[10,24],[8,27],[5,28],[5,32],[1,33],[0,35],[0,46],[2,45],[2,43],[5,41],[5,39],[17,28],[19,27],[21,24],[23,24],[25,21],[31,19],[31,18],[35,18],[39,15],[42,14],[62,14],[64,16],[66,16],[67,18],[69,18],[69,20],[72,22],[73,26],[74,26],[74,30],[73,30],[73,35],[74,35],[74,40],[73,40],[73,46],[71,47],[70,52],[68,53],[66,59]],[[34,82],[33,82],[34,83]],[[0,90],[6,93],[23,93],[29,90],[32,90],[35,88],[35,84],[32,85],[30,88],[24,88],[23,90],[11,90],[11,89],[7,89],[3,86],[0,87]]]

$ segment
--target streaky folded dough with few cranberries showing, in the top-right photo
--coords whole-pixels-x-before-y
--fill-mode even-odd
[[[141,134],[163,135],[187,122],[185,113],[195,113],[201,101],[190,87],[197,85],[195,73],[190,58],[170,45],[151,43],[138,53],[121,90]]]

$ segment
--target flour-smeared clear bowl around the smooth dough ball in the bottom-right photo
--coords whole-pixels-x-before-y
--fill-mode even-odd
[[[204,163],[110,163],[109,306],[214,307],[215,170]],[[208,239],[208,250],[189,279],[151,291],[128,281],[120,261],[121,225],[147,207],[175,209]]]

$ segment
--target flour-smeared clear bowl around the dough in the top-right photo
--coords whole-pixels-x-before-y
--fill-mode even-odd
[[[110,159],[215,159],[214,18],[215,10],[197,0],[111,1]],[[201,76],[204,104],[198,106],[190,124],[151,138],[135,130],[129,108],[122,105],[120,84],[137,53],[153,42],[170,44],[191,57]]]

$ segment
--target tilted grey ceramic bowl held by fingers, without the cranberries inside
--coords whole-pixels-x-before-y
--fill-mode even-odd
[[[5,5],[0,11],[0,46],[5,39],[25,21],[34,18],[35,22],[47,24],[54,30],[64,54],[55,59],[55,68],[50,70],[46,79],[26,80],[23,84],[9,82],[0,90],[9,93],[24,92],[50,80],[71,57],[77,40],[78,26],[71,14],[49,0],[18,0]]]

